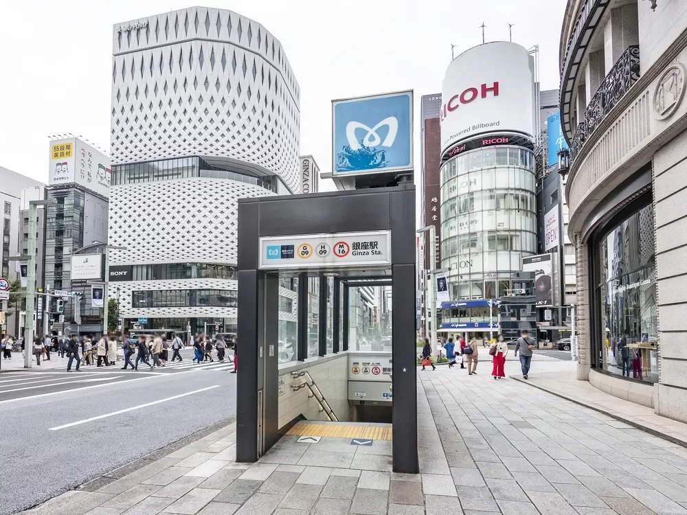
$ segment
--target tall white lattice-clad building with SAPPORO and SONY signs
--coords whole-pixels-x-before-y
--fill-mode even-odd
[[[229,10],[113,30],[109,295],[124,328],[236,331],[238,198],[300,187],[300,88]],[[208,328],[210,329],[210,328]]]

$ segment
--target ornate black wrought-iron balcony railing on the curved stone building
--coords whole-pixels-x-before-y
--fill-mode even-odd
[[[585,109],[584,118],[578,124],[570,146],[570,162],[577,157],[589,136],[608,115],[611,109],[640,78],[640,47],[630,45],[613,65],[598,91]]]

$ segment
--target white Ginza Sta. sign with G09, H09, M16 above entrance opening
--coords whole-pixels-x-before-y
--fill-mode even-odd
[[[391,231],[260,238],[260,268],[390,266]]]

